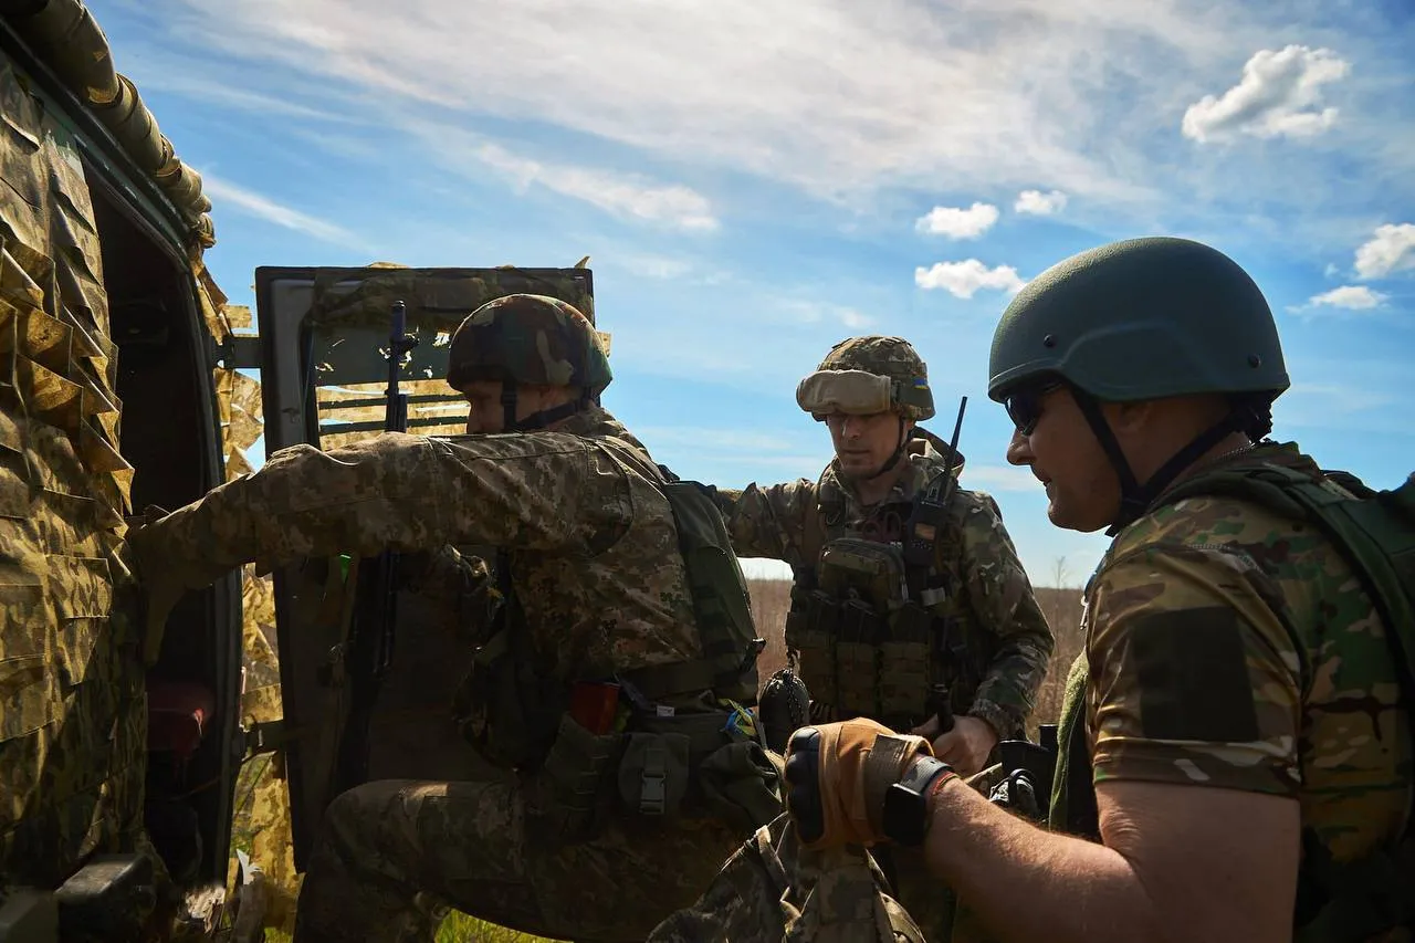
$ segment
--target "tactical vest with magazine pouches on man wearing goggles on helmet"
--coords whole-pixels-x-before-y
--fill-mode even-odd
[[[916,504],[923,494],[921,487]],[[965,637],[957,619],[934,615],[957,590],[937,545],[932,565],[911,572],[900,542],[826,541],[824,528],[839,513],[822,504],[808,514],[807,564],[795,571],[787,613],[785,643],[799,661],[812,716],[869,716],[908,731],[937,712],[945,692],[954,712],[965,714],[996,640]]]

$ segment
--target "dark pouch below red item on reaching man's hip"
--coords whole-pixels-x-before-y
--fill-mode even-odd
[[[528,810],[531,827],[552,847],[593,838],[601,821],[608,772],[618,756],[621,733],[591,733],[569,712],[560,715],[550,752],[539,776],[545,784],[541,801]]]

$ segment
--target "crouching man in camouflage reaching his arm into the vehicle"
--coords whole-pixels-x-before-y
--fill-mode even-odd
[[[641,940],[780,811],[746,709],[761,643],[741,572],[730,552],[683,554],[713,542],[683,503],[713,505],[597,405],[610,378],[576,309],[501,297],[451,341],[466,438],[284,449],[130,535],[158,610],[170,586],[258,558],[502,549],[505,624],[478,653],[468,726],[514,775],[338,796],[297,940],[432,939],[427,901],[545,936]]]

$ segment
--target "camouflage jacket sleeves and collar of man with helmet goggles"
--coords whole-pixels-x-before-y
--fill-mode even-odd
[[[798,479],[719,490],[733,549],[740,556],[785,561],[799,573],[818,566],[819,547],[808,547],[814,534],[822,542],[839,537],[899,541],[914,494],[945,469],[944,456],[931,446],[918,440],[910,445],[908,473],[873,507],[863,507],[839,480],[833,462],[818,481]],[[818,520],[812,522],[809,515]],[[971,674],[981,678],[968,714],[986,721],[1003,738],[1019,736],[1036,704],[1054,640],[998,504],[982,491],[958,488],[949,504],[949,525],[935,548],[935,566],[951,592],[931,612],[951,617],[955,631],[978,641],[968,648],[968,657],[976,661]]]

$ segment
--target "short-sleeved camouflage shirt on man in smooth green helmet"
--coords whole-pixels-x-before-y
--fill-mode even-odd
[[[1295,445],[1231,460],[1319,474]],[[1371,599],[1313,527],[1232,498],[1159,507],[1087,586],[1085,729],[1097,783],[1296,799],[1350,861],[1409,808],[1409,715]]]

